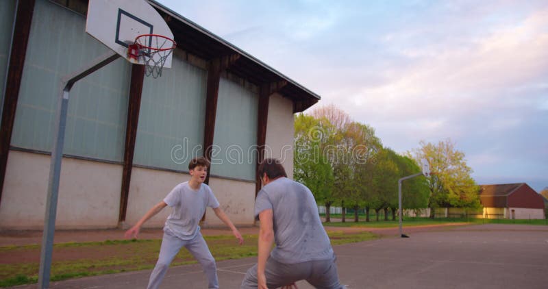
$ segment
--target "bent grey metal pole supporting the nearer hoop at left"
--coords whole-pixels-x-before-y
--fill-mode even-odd
[[[63,77],[62,92],[58,101],[57,114],[55,115],[55,127],[53,133],[53,149],[51,150],[51,164],[49,166],[49,184],[47,187],[46,213],[44,217],[44,231],[42,233],[42,250],[40,252],[40,271],[38,271],[38,288],[49,287],[49,273],[51,269],[51,253],[53,251],[53,235],[55,233],[55,215],[57,214],[57,199],[59,192],[59,179],[61,175],[61,160],[63,156],[64,130],[66,126],[66,114],[69,108],[69,92],[73,85],[80,79],[94,73],[99,68],[118,59],[120,55],[109,51],[93,60],[90,66],[80,71]]]

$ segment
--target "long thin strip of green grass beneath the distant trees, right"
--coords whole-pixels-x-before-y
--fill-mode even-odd
[[[406,218],[403,217],[402,225],[406,227],[422,226],[422,225],[444,225],[451,223],[471,223],[471,224],[523,224],[523,225],[548,225],[548,220],[508,220],[508,219],[484,219],[484,218]],[[371,227],[371,228],[390,228],[398,227],[399,222],[384,221],[375,218],[370,218],[369,222],[365,221],[365,216],[360,218],[358,223],[354,222],[354,218],[347,218],[345,223],[340,221],[323,223],[329,227]]]

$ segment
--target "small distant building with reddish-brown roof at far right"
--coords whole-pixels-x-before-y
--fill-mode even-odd
[[[544,200],[525,183],[482,185],[484,218],[543,219]]]

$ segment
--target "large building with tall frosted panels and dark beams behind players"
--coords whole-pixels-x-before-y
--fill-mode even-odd
[[[319,96],[155,1],[177,48],[162,77],[119,59],[69,101],[56,227],[133,224],[212,160],[208,184],[236,224],[253,224],[256,166],[292,174],[293,114]],[[85,32],[87,0],[0,1],[0,229],[41,229],[61,79],[108,48]],[[162,226],[169,210],[152,218]],[[208,209],[204,225],[220,225]]]

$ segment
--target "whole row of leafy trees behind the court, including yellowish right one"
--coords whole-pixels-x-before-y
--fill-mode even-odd
[[[354,209],[356,222],[362,209],[366,221],[371,211],[377,221],[381,211],[385,220],[388,211],[395,219],[398,179],[419,173],[417,160],[422,159],[429,162],[432,175],[403,182],[403,208],[479,206],[479,187],[470,177],[464,153],[450,140],[438,145],[421,142],[419,149],[399,155],[382,145],[373,127],[352,121],[334,105],[295,117],[293,176],[325,205],[327,222],[333,205],[343,208],[343,221],[346,208]]]

